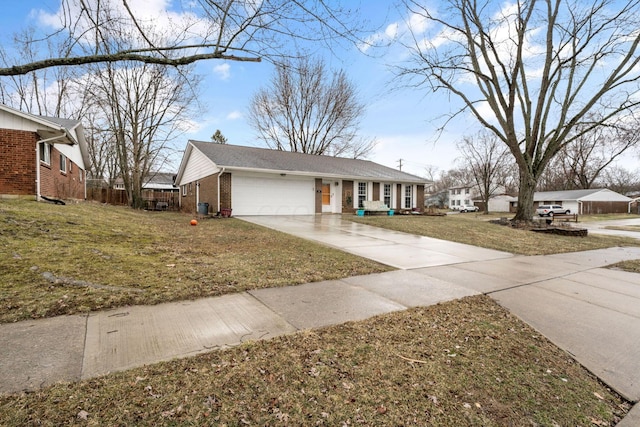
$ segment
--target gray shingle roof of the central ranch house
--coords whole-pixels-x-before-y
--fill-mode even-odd
[[[380,181],[425,183],[426,179],[369,160],[318,156],[239,145],[189,141],[216,165],[265,171],[313,173],[318,176],[368,178]]]

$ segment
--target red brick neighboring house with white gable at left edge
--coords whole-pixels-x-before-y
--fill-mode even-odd
[[[0,104],[0,198],[85,199],[89,164],[78,121]]]

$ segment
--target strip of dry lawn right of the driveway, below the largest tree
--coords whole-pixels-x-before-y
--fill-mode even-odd
[[[395,215],[350,216],[352,221],[405,233],[435,237],[458,243],[521,255],[586,251],[612,246],[640,246],[637,239],[591,234],[570,237],[533,233],[488,222],[495,215],[456,214],[447,216]]]

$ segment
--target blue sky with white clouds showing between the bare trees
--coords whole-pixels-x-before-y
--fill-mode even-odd
[[[59,0],[2,2],[0,34],[6,37],[14,30],[28,25],[42,25],[54,14]],[[388,0],[362,2],[363,18],[379,28],[378,40],[402,34],[406,15],[390,7]],[[133,10],[143,4],[149,13],[154,9],[171,8],[170,0],[129,0]],[[174,3],[175,4],[175,3]],[[414,26],[421,25],[413,22]],[[415,28],[415,27],[414,27]],[[6,40],[2,40],[6,42]],[[449,111],[448,99],[423,89],[402,89],[391,66],[406,58],[407,51],[396,44],[388,49],[368,50],[355,46],[333,53],[318,51],[330,68],[344,69],[355,83],[361,101],[366,105],[361,123],[361,135],[378,141],[369,160],[425,176],[425,168],[435,165],[440,170],[455,166],[458,153],[455,143],[463,136],[478,131],[475,120],[461,120],[436,137],[438,120]],[[197,65],[197,73],[204,77],[201,100],[205,113],[193,123],[193,128],[177,142],[184,147],[188,139],[208,141],[219,129],[230,144],[264,146],[248,125],[246,117],[251,96],[269,83],[273,66],[268,62],[233,62],[210,60]],[[622,166],[630,167],[633,163]]]

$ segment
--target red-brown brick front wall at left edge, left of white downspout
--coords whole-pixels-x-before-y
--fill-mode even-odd
[[[36,134],[0,129],[0,194],[35,196]]]

